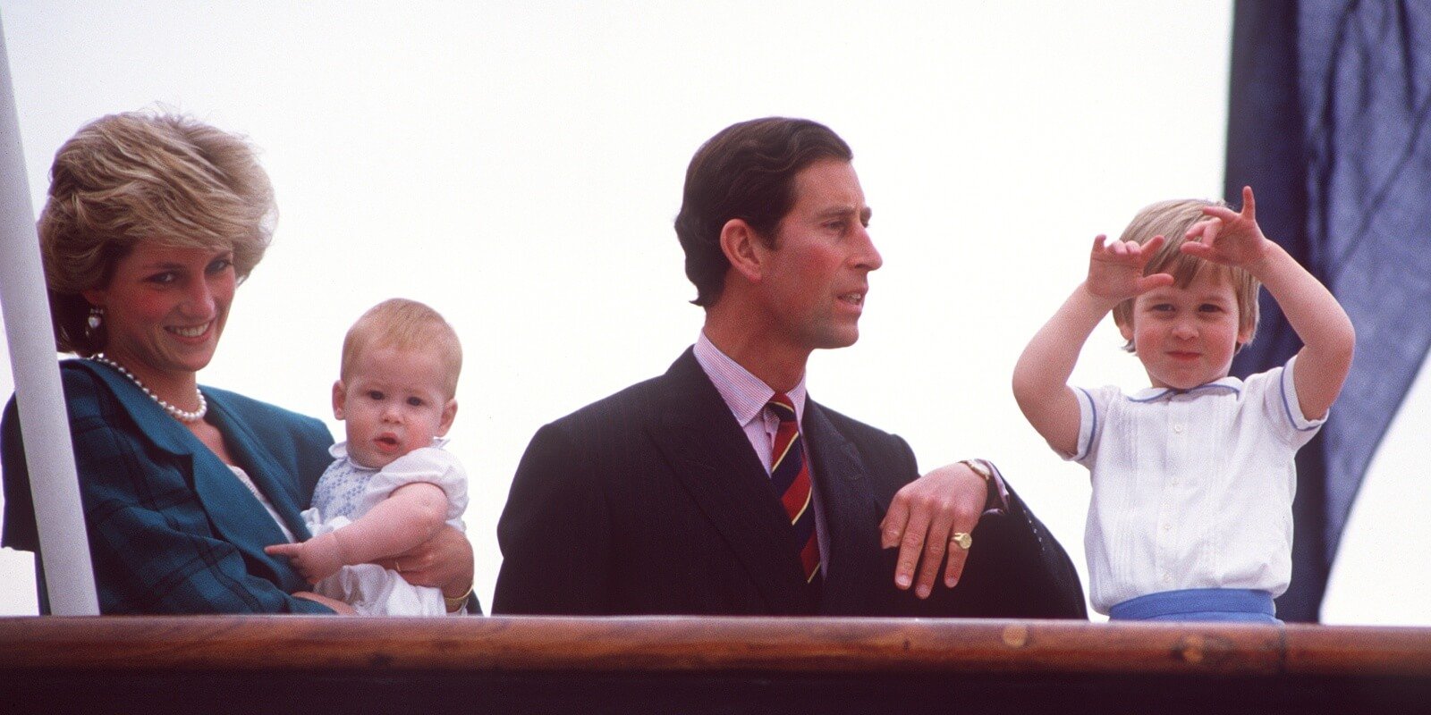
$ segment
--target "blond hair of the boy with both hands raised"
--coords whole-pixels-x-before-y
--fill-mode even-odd
[[[1232,295],[1236,296],[1238,302],[1238,330],[1246,332],[1246,343],[1239,343],[1238,349],[1252,342],[1256,337],[1256,323],[1258,323],[1258,306],[1256,297],[1258,292],[1262,289],[1262,283],[1252,277],[1246,269],[1235,266],[1222,266],[1212,263],[1209,260],[1199,259],[1196,256],[1189,256],[1181,250],[1181,246],[1186,242],[1183,235],[1188,229],[1199,220],[1206,219],[1202,209],[1208,206],[1226,206],[1225,202],[1208,202],[1202,199],[1173,199],[1169,202],[1158,202],[1145,206],[1138,216],[1123,229],[1123,235],[1119,240],[1135,242],[1138,245],[1148,243],[1153,236],[1166,236],[1168,242],[1158,249],[1158,253],[1143,266],[1143,275],[1151,276],[1153,273],[1169,273],[1173,277],[1173,285],[1178,287],[1188,287],[1198,273],[1202,270],[1219,272],[1228,282],[1232,283]],[[1119,325],[1133,325],[1133,299],[1123,300],[1113,307],[1113,320]],[[1123,349],[1133,352],[1133,342],[1128,340]]]

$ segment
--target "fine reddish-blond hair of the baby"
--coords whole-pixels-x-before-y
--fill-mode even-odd
[[[339,378],[346,383],[353,363],[368,347],[395,347],[398,350],[436,350],[446,376],[442,382],[446,398],[456,396],[456,379],[462,372],[462,343],[456,332],[442,316],[405,297],[392,297],[368,309],[343,336],[343,362]]]

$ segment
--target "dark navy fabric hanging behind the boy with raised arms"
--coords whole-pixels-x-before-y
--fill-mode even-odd
[[[1251,184],[1268,237],[1357,326],[1357,359],[1298,455],[1288,621],[1317,621],[1362,475],[1431,347],[1431,3],[1239,0],[1228,107],[1228,197]],[[1264,293],[1246,376],[1299,340]]]

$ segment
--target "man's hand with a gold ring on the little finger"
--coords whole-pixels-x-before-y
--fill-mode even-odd
[[[973,532],[987,500],[989,485],[963,463],[942,466],[904,485],[880,522],[881,545],[899,546],[894,585],[909,589],[913,583],[919,598],[929,598],[946,555],[944,585],[959,583],[969,552],[950,543],[950,538]]]

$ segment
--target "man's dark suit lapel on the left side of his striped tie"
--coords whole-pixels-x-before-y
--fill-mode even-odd
[[[771,613],[809,613],[794,532],[770,478],[691,350],[665,373],[670,390],[648,433],[675,478],[768,602]]]

